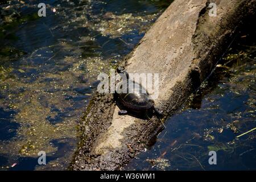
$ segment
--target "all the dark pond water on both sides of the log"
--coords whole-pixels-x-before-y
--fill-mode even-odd
[[[66,169],[97,75],[134,48],[170,1],[24,2],[1,5],[0,168]],[[47,4],[45,18],[37,16],[39,2]],[[256,131],[236,138],[256,127],[252,27],[125,169],[256,169]],[[46,166],[37,162],[41,150]],[[217,165],[209,165],[209,151]]]

